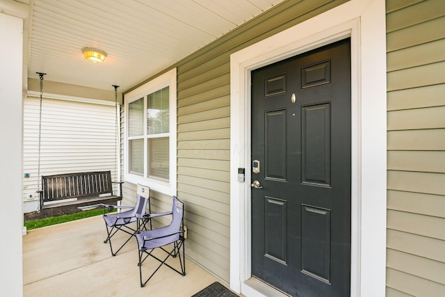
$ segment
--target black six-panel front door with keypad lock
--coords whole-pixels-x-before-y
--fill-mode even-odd
[[[252,275],[350,296],[350,40],[252,72]]]

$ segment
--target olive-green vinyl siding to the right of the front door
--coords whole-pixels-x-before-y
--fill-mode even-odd
[[[387,296],[445,295],[445,3],[387,1]]]

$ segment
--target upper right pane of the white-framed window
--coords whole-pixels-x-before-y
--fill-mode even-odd
[[[169,131],[169,87],[148,95],[147,134],[167,133]]]

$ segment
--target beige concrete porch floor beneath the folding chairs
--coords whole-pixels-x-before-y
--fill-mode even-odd
[[[163,266],[141,288],[136,239],[113,257],[105,238],[102,216],[30,230],[23,237],[24,296],[187,297],[218,281],[186,259],[185,276]],[[143,267],[157,263],[147,259]]]

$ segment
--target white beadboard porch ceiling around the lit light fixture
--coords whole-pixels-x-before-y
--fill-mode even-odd
[[[28,76],[125,91],[282,0],[19,0],[29,5]],[[106,51],[88,62],[83,47]]]

